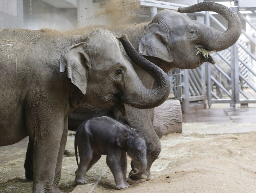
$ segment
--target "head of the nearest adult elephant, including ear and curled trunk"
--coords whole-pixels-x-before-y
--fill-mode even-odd
[[[170,92],[164,71],[141,56],[126,36],[126,52],[133,53],[135,63],[156,79],[155,88],[147,89],[137,76],[122,44],[109,31],[98,29],[81,43],[70,46],[61,55],[60,71],[84,94],[85,101],[99,107],[123,106],[123,102],[137,108],[154,108],[162,104]]]

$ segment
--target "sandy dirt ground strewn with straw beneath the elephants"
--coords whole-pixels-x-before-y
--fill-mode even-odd
[[[163,137],[162,152],[152,166],[154,179],[144,182],[129,180],[131,188],[119,192],[256,192],[256,133],[204,135],[194,132],[202,126],[207,127],[207,124],[184,123],[183,134]],[[209,129],[220,127],[218,124],[208,125]],[[243,129],[244,125],[240,127]],[[74,136],[69,136],[66,146],[72,152],[73,139]],[[25,180],[23,168],[26,140],[0,148],[0,192],[32,191],[32,182]],[[75,188],[76,168],[75,157],[64,156],[60,181],[62,191],[70,192]],[[92,192],[115,191],[105,156],[86,176],[88,184],[77,186],[74,192],[89,192],[92,188]],[[99,177],[99,183],[95,185]]]

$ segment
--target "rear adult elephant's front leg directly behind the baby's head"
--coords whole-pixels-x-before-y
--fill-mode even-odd
[[[119,111],[114,111],[115,119],[122,121],[123,123],[131,126],[141,133],[147,144],[147,169],[141,176],[131,175],[131,179],[151,179],[152,175],[150,173],[150,168],[152,163],[158,158],[161,152],[161,142],[157,133],[154,130],[152,116],[154,115],[154,109],[137,109],[128,105],[125,105],[126,116],[124,117]],[[132,159],[132,168],[141,169],[141,164]]]

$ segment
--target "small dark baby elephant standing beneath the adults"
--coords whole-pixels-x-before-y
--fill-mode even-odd
[[[77,146],[80,164],[77,158]],[[101,155],[107,155],[106,162],[115,179],[114,188],[119,190],[130,185],[126,182],[126,152],[141,163],[141,170],[135,168],[135,175],[145,172],[147,167],[147,146],[141,136],[126,125],[110,118],[96,117],[79,126],[75,135],[75,156],[78,169],[75,183],[86,184],[85,174]]]

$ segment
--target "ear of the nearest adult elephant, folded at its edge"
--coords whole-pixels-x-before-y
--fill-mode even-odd
[[[88,82],[88,56],[85,48],[88,44],[81,42],[66,48],[59,59],[59,71],[66,71],[71,82],[77,86],[83,94],[86,93]]]

